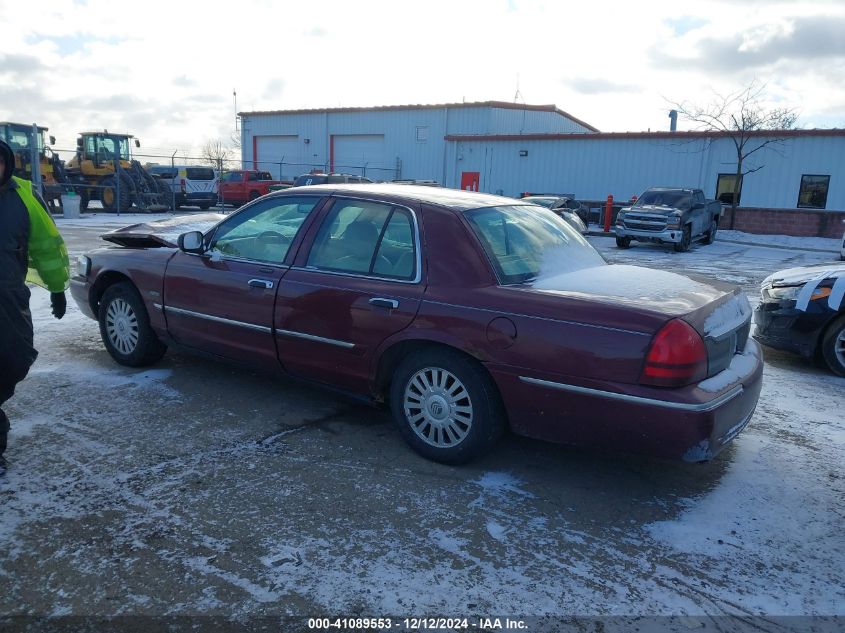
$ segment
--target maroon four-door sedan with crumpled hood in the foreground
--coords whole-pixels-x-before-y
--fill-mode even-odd
[[[702,461],[757,404],[738,288],[608,265],[535,205],[321,185],[179,225],[194,219],[121,229],[105,237],[126,248],[80,258],[74,298],[117,362],[173,345],[329,384],[388,404],[447,463],[506,428]]]

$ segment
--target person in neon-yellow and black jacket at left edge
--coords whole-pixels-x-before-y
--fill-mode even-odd
[[[27,282],[50,291],[53,316],[61,319],[70,279],[67,248],[47,205],[32,183],[12,175],[14,168],[12,150],[0,141],[0,407],[38,355]],[[9,418],[0,408],[0,455],[8,433]]]

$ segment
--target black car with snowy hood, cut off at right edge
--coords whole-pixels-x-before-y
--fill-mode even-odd
[[[845,264],[781,270],[760,285],[754,338],[845,376]]]

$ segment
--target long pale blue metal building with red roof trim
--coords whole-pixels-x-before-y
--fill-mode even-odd
[[[322,168],[373,180],[431,179],[517,196],[608,194],[655,185],[732,191],[730,138],[692,132],[602,133],[555,106],[504,102],[241,113],[246,166],[282,179]],[[794,130],[755,153],[740,205],[845,210],[845,130]],[[758,135],[752,143],[766,140]]]

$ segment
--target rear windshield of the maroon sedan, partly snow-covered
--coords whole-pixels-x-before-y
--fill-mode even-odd
[[[475,209],[466,218],[503,285],[605,264],[565,220],[536,206]]]

